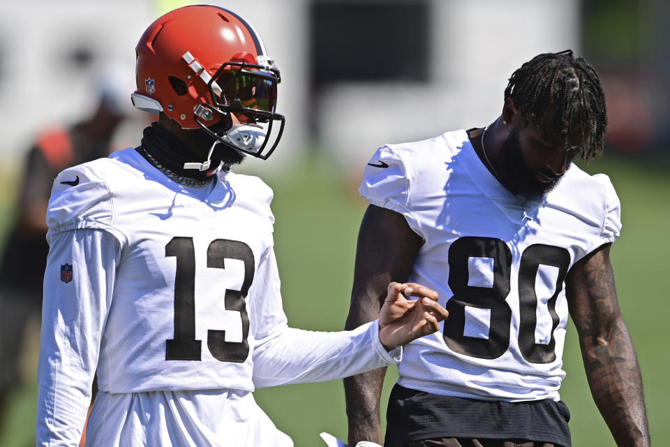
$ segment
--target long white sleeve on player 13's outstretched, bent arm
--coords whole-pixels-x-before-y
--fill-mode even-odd
[[[387,352],[380,342],[377,321],[341,332],[289,328],[273,250],[256,278],[249,294],[256,388],[341,379],[401,360],[402,348]]]

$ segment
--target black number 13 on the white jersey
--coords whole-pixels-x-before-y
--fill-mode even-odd
[[[193,237],[172,237],[165,245],[165,256],[177,257],[174,277],[174,338],[165,342],[165,360],[201,360],[202,341],[195,339],[195,249]],[[246,294],[253,281],[253,251],[244,242],[227,239],[212,241],[207,248],[207,267],[225,268],[225,259],[244,262],[244,280],[239,291],[226,289],[226,310],[239,312],[242,322],[242,341],[226,342],[225,330],[207,331],[207,348],[222,362],[244,362],[249,353],[249,317],[246,313]]]

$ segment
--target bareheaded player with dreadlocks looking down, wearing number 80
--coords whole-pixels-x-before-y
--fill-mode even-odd
[[[606,126],[593,67],[539,54],[512,74],[493,123],[386,145],[368,163],[347,327],[375,318],[390,278],[426,284],[449,311],[405,347],[385,446],[570,446],[568,316],[617,445],[649,445],[609,259],[619,200],[606,175],[572,163],[601,154]],[[381,441],[384,374],[345,379],[350,445]]]

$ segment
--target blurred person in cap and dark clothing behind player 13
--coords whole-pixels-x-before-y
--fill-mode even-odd
[[[65,168],[108,156],[114,133],[133,111],[126,78],[116,76],[116,70],[110,66],[96,75],[97,104],[91,115],[72,126],[50,126],[38,133],[24,173],[17,177],[22,184],[15,222],[0,261],[0,420],[8,394],[22,380],[19,360],[31,355],[21,352],[28,347],[24,336],[29,338],[29,321],[38,321],[42,309],[47,204],[54,178]]]

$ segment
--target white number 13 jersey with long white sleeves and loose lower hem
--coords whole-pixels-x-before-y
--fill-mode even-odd
[[[38,445],[290,446],[258,386],[398,360],[378,324],[288,328],[271,189],[217,174],[181,186],[134,149],[64,170],[47,213]]]

